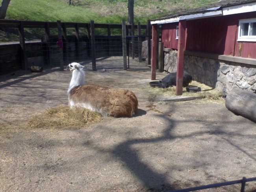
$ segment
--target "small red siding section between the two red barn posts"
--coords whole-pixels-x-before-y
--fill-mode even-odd
[[[164,47],[178,49],[178,40],[176,39],[176,26],[178,25],[178,22],[162,25],[162,42]]]

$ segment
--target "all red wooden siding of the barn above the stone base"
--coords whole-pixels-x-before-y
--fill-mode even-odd
[[[186,50],[256,58],[256,42],[237,42],[239,20],[255,17],[256,12],[251,12],[187,20]],[[178,48],[177,25],[162,25],[163,46]]]

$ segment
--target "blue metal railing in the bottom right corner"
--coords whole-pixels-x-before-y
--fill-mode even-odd
[[[190,191],[197,191],[197,190],[202,190],[202,189],[207,189],[207,188],[215,188],[215,187],[220,187],[220,186],[226,186],[226,185],[234,185],[237,183],[241,183],[241,192],[245,191],[245,183],[249,181],[256,181],[256,177],[252,178],[245,178],[236,181],[228,181],[224,183],[215,183],[215,184],[210,184],[210,185],[203,185],[203,186],[196,186],[196,187],[191,187],[191,188],[186,188],[186,189],[179,189],[179,190],[172,190],[169,192],[190,192]]]

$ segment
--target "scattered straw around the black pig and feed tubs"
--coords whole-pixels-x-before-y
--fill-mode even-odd
[[[197,81],[192,81],[189,86],[198,86],[201,87],[201,91],[192,93],[187,92],[186,87],[183,87],[182,89],[182,95],[183,96],[203,96],[204,100],[207,100],[207,102],[224,102],[223,93],[213,89],[212,87],[209,87],[203,83],[199,83]],[[158,88],[158,87],[150,87],[150,92],[153,94],[161,94],[163,96],[175,96],[175,89],[176,86],[168,87],[166,89]]]

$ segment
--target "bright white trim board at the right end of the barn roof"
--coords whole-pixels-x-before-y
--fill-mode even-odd
[[[237,13],[248,13],[252,11],[256,11],[256,2],[252,2],[249,4],[241,4],[237,6],[224,7],[223,15],[234,15]]]

